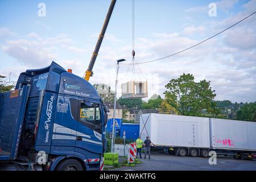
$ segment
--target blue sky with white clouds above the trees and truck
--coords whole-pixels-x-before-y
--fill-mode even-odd
[[[38,16],[40,2],[46,4],[46,17]],[[217,5],[216,17],[208,15],[212,2]],[[16,80],[20,72],[46,67],[54,60],[82,76],[109,4],[110,0],[0,1],[1,75],[12,72]],[[255,10],[255,0],[135,0],[135,59],[151,60],[187,48]],[[193,73],[197,81],[212,81],[216,100],[256,101],[255,19],[254,15],[179,56],[140,65],[150,94],[163,96],[168,80]],[[114,88],[115,60],[131,60],[131,0],[117,0],[105,36],[90,82],[105,82]],[[126,71],[122,65],[119,84],[130,79]],[[137,73],[145,79],[139,69]]]

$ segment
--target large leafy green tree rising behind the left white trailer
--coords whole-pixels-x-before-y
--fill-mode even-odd
[[[170,80],[164,92],[167,102],[181,115],[199,116],[203,110],[207,110],[207,114],[218,114],[217,104],[213,102],[216,94],[210,87],[210,81],[194,80],[193,75],[184,73],[179,78]]]

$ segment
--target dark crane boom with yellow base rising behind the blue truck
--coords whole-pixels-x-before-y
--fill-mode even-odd
[[[86,70],[85,75],[84,75],[84,79],[86,81],[89,81],[90,77],[93,75],[93,73],[92,73],[93,65],[94,65],[94,63],[96,61],[96,58],[98,56],[98,51],[100,50],[101,43],[102,43],[102,40],[104,38],[106,28],[108,27],[109,20],[110,20],[110,17],[112,15],[112,12],[113,12],[116,1],[117,0],[112,0],[112,2],[110,3],[108,14],[106,15],[105,22],[104,22],[103,27],[101,29],[101,33],[98,36],[98,41],[97,41],[96,47],[93,51],[92,58],[90,59],[90,64],[89,64],[88,69]]]

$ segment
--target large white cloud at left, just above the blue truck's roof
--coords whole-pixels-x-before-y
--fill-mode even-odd
[[[32,65],[36,67],[45,66],[53,60],[60,59],[59,49],[72,52],[73,55],[83,54],[86,49],[72,46],[73,40],[66,34],[42,38],[35,32],[27,35],[29,39],[17,39],[6,41],[1,46],[3,52],[14,57],[18,64]]]

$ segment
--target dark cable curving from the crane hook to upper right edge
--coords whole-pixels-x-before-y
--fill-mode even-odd
[[[232,27],[236,26],[238,23],[241,23],[243,20],[249,18],[250,16],[254,15],[255,13],[256,13],[256,11],[255,11],[254,13],[252,13],[252,14],[246,16],[245,18],[241,19],[239,22],[233,24],[232,26],[230,26],[230,27],[228,27],[228,28],[226,28],[226,29],[224,29],[224,30],[218,32],[217,34],[215,34],[215,35],[213,35],[213,36],[210,36],[208,39],[205,39],[205,40],[203,40],[203,41],[201,41],[201,42],[199,42],[199,43],[197,43],[197,44],[195,44],[195,45],[193,45],[193,46],[191,46],[191,47],[188,47],[188,48],[186,48],[186,49],[183,49],[183,50],[181,50],[181,51],[179,51],[179,52],[173,53],[173,54],[168,55],[168,56],[161,57],[161,58],[159,58],[159,59],[155,59],[155,60],[151,60],[151,61],[142,61],[142,62],[140,62],[140,63],[132,63],[132,64],[151,63],[151,62],[154,62],[154,61],[159,61],[159,60],[162,60],[162,59],[166,59],[167,57],[171,57],[171,56],[177,55],[177,54],[179,54],[179,53],[181,53],[181,52],[185,52],[185,51],[187,51],[188,49],[191,49],[191,48],[193,48],[193,47],[196,47],[196,46],[198,46],[199,44],[204,43],[204,42],[206,42],[207,40],[212,39],[212,38],[214,38],[215,36],[221,34],[222,32],[225,32],[226,30],[229,30],[229,28],[232,28]],[[127,64],[127,63],[122,63],[122,64]]]

